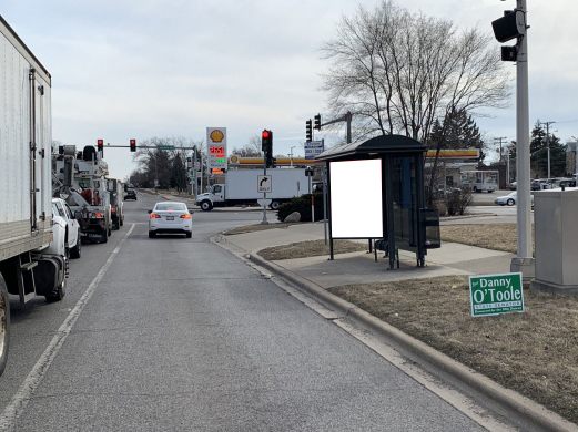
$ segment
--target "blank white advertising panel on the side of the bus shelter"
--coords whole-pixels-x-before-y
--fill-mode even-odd
[[[381,238],[382,160],[329,162],[334,238]]]

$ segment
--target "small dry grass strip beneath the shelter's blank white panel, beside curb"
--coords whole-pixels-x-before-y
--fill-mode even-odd
[[[367,245],[349,240],[334,240],[334,254],[367,250]],[[329,245],[325,240],[310,240],[293,243],[291,245],[267,247],[258,251],[258,255],[271,261],[277,259],[307,258],[329,255]]]

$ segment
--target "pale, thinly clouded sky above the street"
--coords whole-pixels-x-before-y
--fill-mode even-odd
[[[527,3],[530,125],[556,121],[551,131],[564,143],[578,136],[578,8],[571,0]],[[231,153],[267,128],[275,154],[294,147],[303,155],[305,121],[328,111],[321,88],[329,63],[320,45],[358,4],[372,9],[376,1],[0,0],[0,14],[52,75],[54,141],[78,147],[98,138],[201,142],[206,127],[226,127]],[[516,1],[398,4],[491,32],[491,21]],[[515,84],[514,63],[507,68]],[[515,96],[510,105],[476,119],[489,142],[515,138]],[[104,156],[111,177],[136,167],[129,148],[108,148]]]

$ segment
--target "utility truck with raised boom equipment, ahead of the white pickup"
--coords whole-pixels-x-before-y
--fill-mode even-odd
[[[80,235],[87,241],[107,243],[112,234],[112,209],[107,175],[109,167],[92,145],[77,152],[74,145],[59,147],[55,174],[60,187],[54,196],[63,198],[77,215]]]

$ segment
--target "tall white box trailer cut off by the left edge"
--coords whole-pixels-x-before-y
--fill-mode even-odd
[[[50,73],[0,16],[0,374],[10,341],[9,294],[61,300],[68,258],[52,241]],[[52,243],[52,245],[51,245]]]

